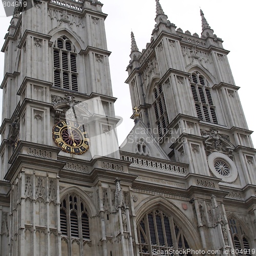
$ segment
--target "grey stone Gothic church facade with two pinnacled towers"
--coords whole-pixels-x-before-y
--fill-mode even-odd
[[[199,37],[156,0],[142,52],[132,33],[135,126],[118,148],[101,8],[41,0],[11,19],[0,255],[253,255],[255,150],[222,40],[202,11]]]

